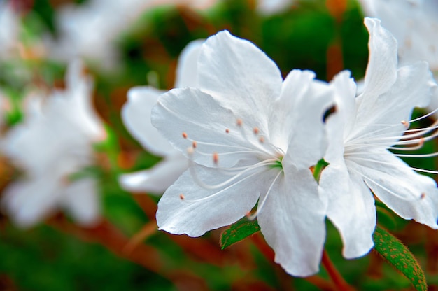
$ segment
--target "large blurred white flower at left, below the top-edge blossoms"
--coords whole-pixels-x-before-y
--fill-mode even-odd
[[[3,153],[25,172],[6,188],[2,200],[21,227],[34,225],[59,207],[83,225],[96,222],[99,216],[96,181],[69,180],[71,174],[92,164],[92,143],[105,134],[92,110],[92,83],[82,70],[79,61],[72,62],[66,90],[55,91],[47,99],[30,99],[26,119],[2,141]]]

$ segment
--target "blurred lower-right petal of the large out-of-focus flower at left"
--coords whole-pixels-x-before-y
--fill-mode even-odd
[[[82,178],[66,185],[60,202],[80,225],[92,226],[99,221],[100,201],[96,180]]]

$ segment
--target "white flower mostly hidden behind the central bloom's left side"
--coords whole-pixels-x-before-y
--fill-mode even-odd
[[[197,58],[204,40],[192,41],[181,52],[176,68],[175,87],[196,86]],[[122,120],[141,145],[163,160],[152,169],[120,176],[123,189],[132,192],[164,192],[188,168],[188,160],[175,150],[167,139],[150,123],[150,111],[162,90],[153,87],[134,87],[128,92],[122,108]]]

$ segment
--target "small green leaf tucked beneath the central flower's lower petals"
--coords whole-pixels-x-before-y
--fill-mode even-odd
[[[220,247],[222,250],[224,248],[228,248],[241,241],[242,239],[246,239],[251,234],[255,234],[260,231],[260,226],[258,225],[257,220],[248,220],[248,218],[242,218],[238,222],[231,225],[229,229],[226,229],[222,232],[220,236]]]

